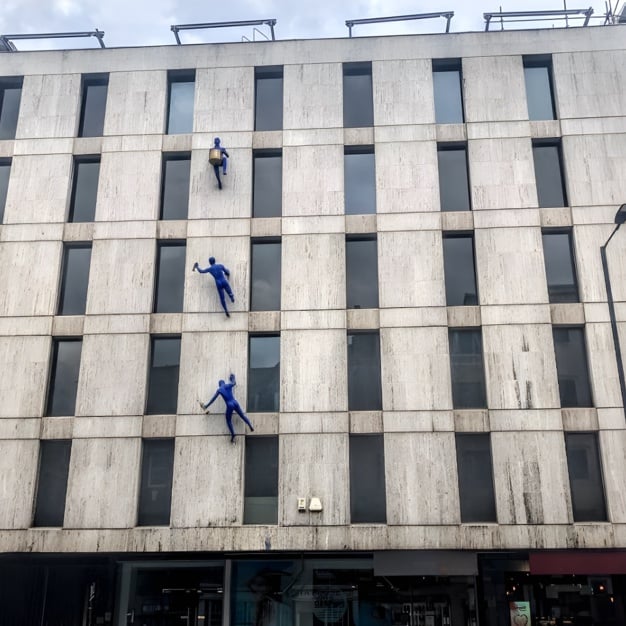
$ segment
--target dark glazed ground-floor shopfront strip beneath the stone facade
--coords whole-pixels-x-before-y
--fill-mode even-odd
[[[0,557],[0,626],[622,626],[625,602],[617,551]]]

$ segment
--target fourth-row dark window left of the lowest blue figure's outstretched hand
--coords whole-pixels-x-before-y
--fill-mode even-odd
[[[174,415],[178,406],[180,337],[152,337],[147,415]]]

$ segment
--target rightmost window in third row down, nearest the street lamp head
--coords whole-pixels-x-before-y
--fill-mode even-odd
[[[546,230],[542,240],[550,302],[578,302],[571,232]]]

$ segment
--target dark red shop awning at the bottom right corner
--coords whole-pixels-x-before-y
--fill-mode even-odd
[[[626,574],[626,551],[543,550],[529,555],[531,574]]]

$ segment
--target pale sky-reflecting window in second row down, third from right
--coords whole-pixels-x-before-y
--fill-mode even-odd
[[[343,186],[346,215],[376,213],[374,146],[345,146]]]

